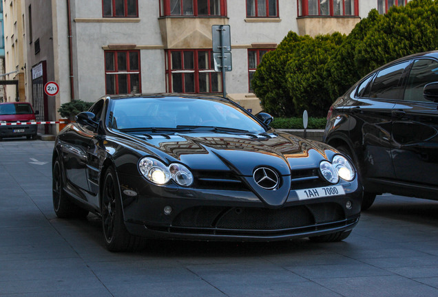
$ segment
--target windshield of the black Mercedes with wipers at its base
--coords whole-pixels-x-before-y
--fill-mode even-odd
[[[108,126],[114,129],[247,131],[265,129],[230,102],[196,98],[130,98],[114,100]]]

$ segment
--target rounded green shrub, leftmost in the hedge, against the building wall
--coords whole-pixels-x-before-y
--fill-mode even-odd
[[[324,116],[331,104],[324,87],[326,63],[344,38],[340,33],[313,39],[289,32],[275,51],[263,56],[254,74],[253,89],[263,109],[276,116],[298,116],[305,109]]]

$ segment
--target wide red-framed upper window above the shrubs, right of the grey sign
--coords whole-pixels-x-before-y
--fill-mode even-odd
[[[298,16],[358,16],[358,7],[358,0],[298,0]]]

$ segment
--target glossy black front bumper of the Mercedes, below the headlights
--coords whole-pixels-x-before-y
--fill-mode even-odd
[[[300,200],[291,190],[283,206],[271,207],[250,190],[155,186],[143,177],[118,177],[127,230],[154,238],[279,241],[320,236],[353,229],[362,203],[357,180],[341,184],[346,195]]]

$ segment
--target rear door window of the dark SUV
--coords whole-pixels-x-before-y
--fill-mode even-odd
[[[377,74],[368,97],[382,99],[401,99],[400,78],[410,61],[382,69]]]

